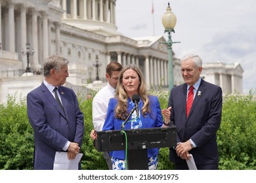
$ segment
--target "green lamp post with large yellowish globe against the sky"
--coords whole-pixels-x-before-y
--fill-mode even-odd
[[[171,32],[175,33],[174,27],[177,22],[177,18],[175,14],[171,11],[170,3],[168,3],[168,7],[166,8],[165,14],[162,16],[162,24],[163,27],[165,27],[165,33],[168,33],[168,41],[167,42],[160,42],[163,44],[168,45],[168,63],[169,63],[169,68],[168,68],[168,80],[169,80],[169,91],[173,88],[173,50],[171,46],[173,43],[178,43],[178,42],[173,42],[171,40]]]

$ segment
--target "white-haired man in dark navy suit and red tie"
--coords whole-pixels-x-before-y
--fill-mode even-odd
[[[200,77],[202,59],[199,56],[184,56],[181,73],[185,83],[171,90],[168,103],[171,107],[170,125],[177,127],[177,146],[170,148],[170,159],[175,163],[175,169],[188,169],[186,159],[192,154],[197,169],[218,169],[216,133],[221,125],[222,90]],[[192,107],[186,114],[190,86],[194,87],[194,95]]]

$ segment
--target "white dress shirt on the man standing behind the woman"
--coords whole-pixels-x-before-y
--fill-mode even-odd
[[[109,83],[96,93],[93,98],[93,126],[96,131],[102,131],[105,122],[108,103],[115,96],[116,89]]]

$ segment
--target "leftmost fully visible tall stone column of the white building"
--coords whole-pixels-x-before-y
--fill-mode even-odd
[[[15,34],[14,34],[14,5],[9,4],[8,10],[8,31],[9,31],[9,48],[10,52],[15,52]]]

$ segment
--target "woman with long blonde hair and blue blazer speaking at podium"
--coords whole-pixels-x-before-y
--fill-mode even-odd
[[[133,110],[136,108],[137,110]],[[133,113],[130,114],[133,110]],[[167,119],[169,122],[169,119]],[[126,65],[119,74],[116,95],[110,99],[108,112],[104,122],[103,131],[121,129],[139,129],[162,127],[158,97],[148,95],[146,82],[142,71],[137,65]],[[148,169],[156,170],[158,167],[159,148],[150,148],[148,152]],[[125,150],[110,152],[112,168],[126,169]],[[140,162],[137,162],[138,164]]]

